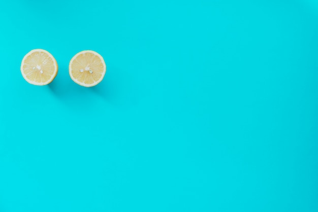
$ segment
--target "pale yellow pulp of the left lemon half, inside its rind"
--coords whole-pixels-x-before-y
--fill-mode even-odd
[[[28,55],[23,64],[25,77],[33,82],[48,82],[54,75],[54,61],[45,52],[33,52]]]

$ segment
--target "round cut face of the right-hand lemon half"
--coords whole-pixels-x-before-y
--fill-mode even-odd
[[[90,85],[99,81],[104,72],[101,58],[93,53],[79,54],[71,63],[73,77],[81,83]]]

